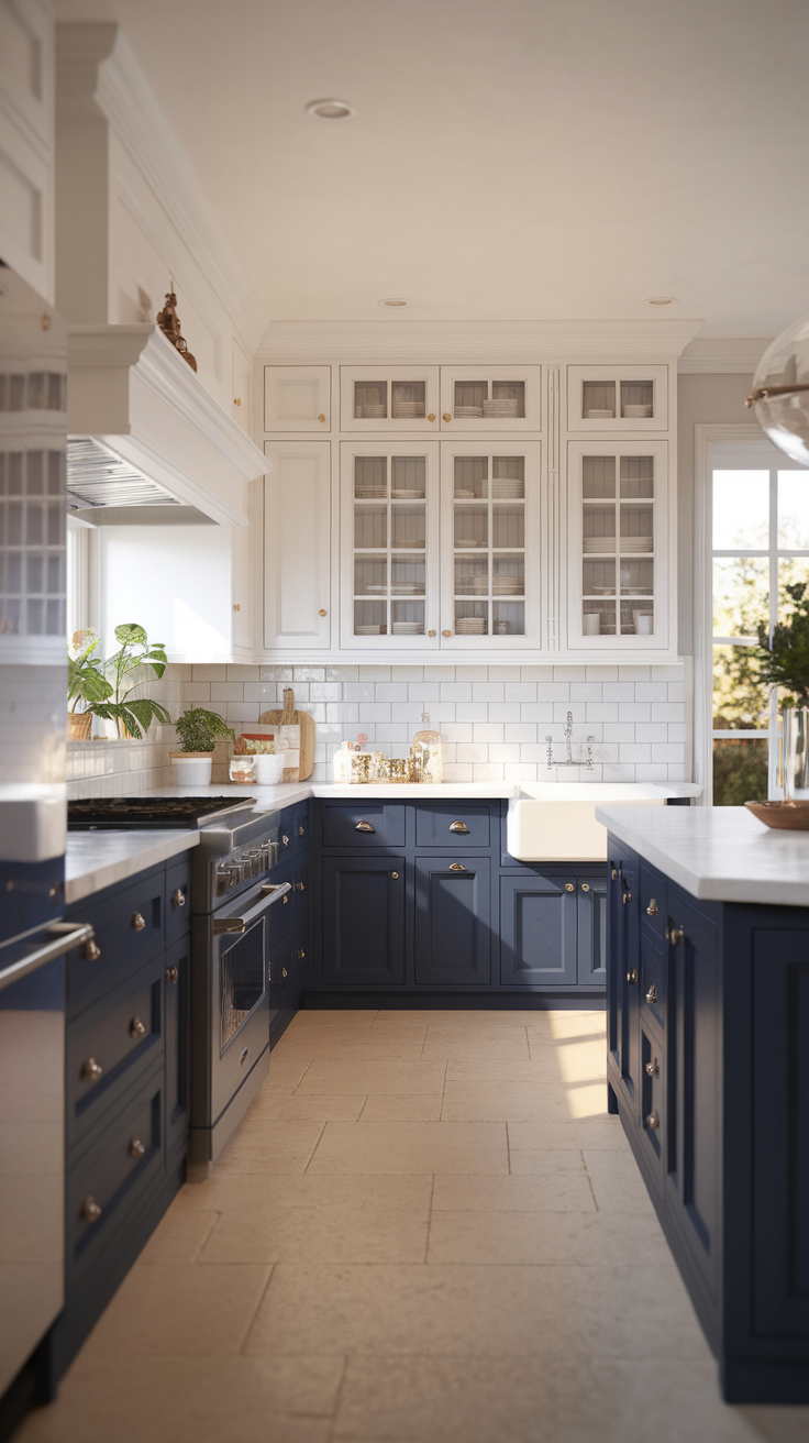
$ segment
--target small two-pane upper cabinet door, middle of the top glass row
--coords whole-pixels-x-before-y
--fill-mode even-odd
[[[441,367],[441,430],[512,434],[541,430],[539,367]]]

